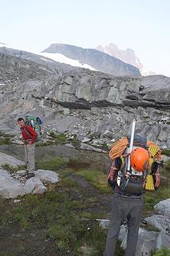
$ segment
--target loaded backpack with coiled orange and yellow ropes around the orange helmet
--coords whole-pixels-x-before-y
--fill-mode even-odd
[[[127,138],[127,142],[125,143],[126,149],[128,147],[129,138]],[[122,143],[122,139],[121,139]],[[154,143],[152,142],[152,145]],[[120,148],[119,144],[117,144],[116,151]],[[117,146],[114,145],[114,146]],[[121,144],[120,144],[121,145]],[[140,146],[147,149],[150,154],[150,161],[148,170],[144,171],[143,173],[134,174],[132,172],[130,175],[127,176],[126,168],[127,168],[127,157],[123,158],[121,155],[125,155],[125,151],[121,152],[117,158],[113,160],[112,166],[110,167],[109,174],[108,174],[108,182],[109,185],[114,188],[117,185],[117,175],[119,172],[119,176],[121,177],[120,181],[120,188],[122,191],[128,194],[141,194],[143,190],[157,190],[160,186],[160,156],[156,157],[156,153],[158,150],[161,153],[161,150],[156,144],[154,146],[149,146],[150,143],[146,142],[144,138],[140,138],[140,136],[135,135],[133,146]],[[153,148],[154,147],[154,148]],[[114,151],[111,152],[114,154]],[[154,151],[154,152],[153,152]],[[110,155],[111,156],[111,155]],[[116,168],[115,168],[116,167]],[[139,175],[140,174],[140,175]]]

